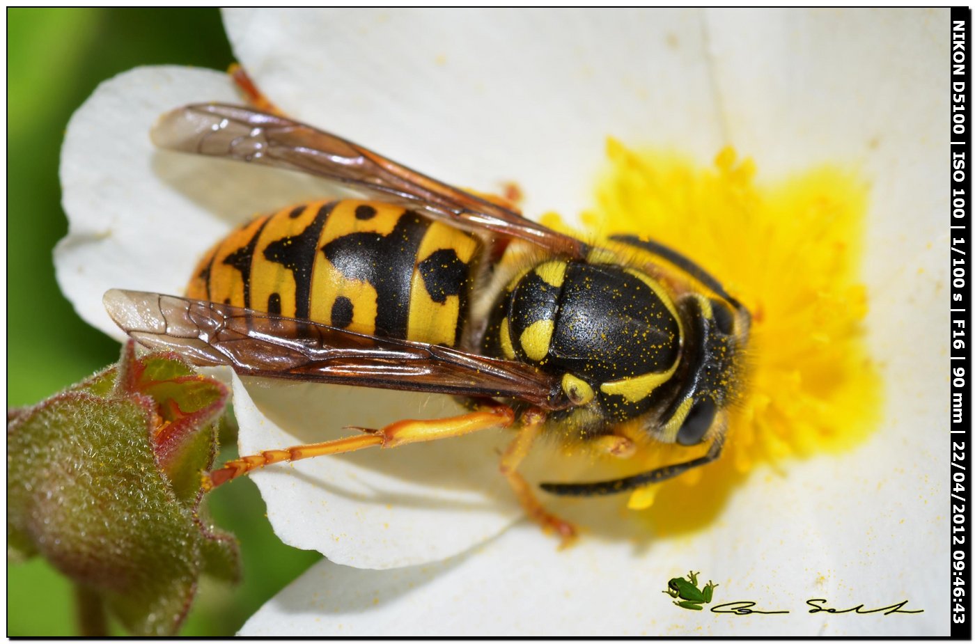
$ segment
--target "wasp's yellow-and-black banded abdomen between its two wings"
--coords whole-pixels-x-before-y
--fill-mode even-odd
[[[382,202],[310,202],[233,231],[187,295],[455,346],[481,254],[474,236]]]

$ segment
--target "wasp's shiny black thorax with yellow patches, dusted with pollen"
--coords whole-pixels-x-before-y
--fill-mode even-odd
[[[606,415],[643,413],[681,355],[673,300],[631,268],[553,259],[505,290],[487,334],[489,351],[565,374],[577,404],[598,399]]]

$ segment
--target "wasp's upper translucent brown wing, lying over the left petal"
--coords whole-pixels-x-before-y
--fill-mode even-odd
[[[152,130],[159,147],[301,170],[469,230],[527,240],[552,252],[584,257],[588,246],[514,210],[409,170],[334,134],[249,107],[187,105],[164,114]]]

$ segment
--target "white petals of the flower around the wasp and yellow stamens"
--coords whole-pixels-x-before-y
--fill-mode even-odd
[[[706,529],[675,537],[655,538],[619,500],[580,500],[555,505],[586,530],[556,549],[516,522],[496,472],[501,433],[255,473],[277,534],[331,561],[243,632],[945,634],[948,19],[947,10],[226,12],[235,54],[285,112],[455,185],[516,180],[529,215],[591,206],[607,135],[701,165],[733,144],[770,182],[825,162],[857,166],[871,183],[866,323],[886,388],[880,429],[860,447],[758,468]],[[104,290],[181,293],[230,226],[331,189],[153,150],[147,132],[162,112],[209,100],[239,97],[220,73],[140,68],[102,85],[69,126],[59,282],[116,337]],[[417,395],[248,392],[236,378],[234,396],[242,453],[444,413]],[[695,489],[714,494],[704,481]],[[712,605],[790,612],[677,608],[661,590],[688,568],[720,584]],[[906,599],[905,610],[924,612],[810,615],[804,602],[817,597],[840,609]]]

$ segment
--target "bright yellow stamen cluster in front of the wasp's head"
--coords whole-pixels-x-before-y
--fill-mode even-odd
[[[748,376],[729,411],[722,459],[630,498],[630,508],[649,509],[658,532],[682,531],[717,514],[754,465],[848,448],[876,427],[880,382],[864,346],[867,289],[858,283],[868,189],[834,167],[761,183],[731,148],[712,169],[614,140],[608,155],[597,205],[582,216],[590,235],[636,233],[671,246],[753,316]],[[626,469],[687,460],[687,451],[649,445]],[[695,485],[702,480],[707,490]]]

